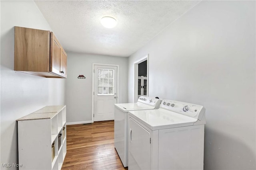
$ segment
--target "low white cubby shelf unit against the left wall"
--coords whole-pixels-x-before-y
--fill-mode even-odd
[[[60,170],[67,152],[66,106],[46,106],[17,121],[19,169]]]

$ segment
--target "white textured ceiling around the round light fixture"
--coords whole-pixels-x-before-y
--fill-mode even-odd
[[[35,1],[65,51],[128,57],[199,1]],[[100,19],[117,20],[112,29]]]

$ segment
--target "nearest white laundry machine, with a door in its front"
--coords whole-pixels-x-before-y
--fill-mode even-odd
[[[172,100],[129,111],[129,170],[203,170],[205,123],[203,106]]]

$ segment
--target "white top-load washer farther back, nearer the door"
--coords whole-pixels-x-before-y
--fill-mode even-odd
[[[115,104],[114,109],[114,146],[124,167],[128,166],[128,128],[127,113],[132,110],[159,108],[161,100],[140,96],[137,103]]]

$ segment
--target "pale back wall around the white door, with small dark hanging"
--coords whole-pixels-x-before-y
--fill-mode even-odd
[[[68,53],[66,79],[67,123],[92,121],[92,63],[119,65],[119,103],[126,103],[128,58],[93,54]],[[78,79],[83,74],[86,79]]]

